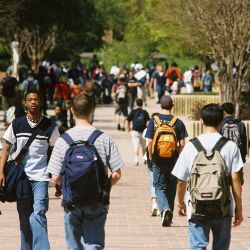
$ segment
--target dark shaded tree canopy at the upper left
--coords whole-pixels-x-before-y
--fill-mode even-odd
[[[1,37],[8,46],[18,40],[20,53],[27,52],[34,70],[53,50],[54,56],[65,58],[101,46],[103,22],[91,0],[23,2],[11,20],[1,21]]]

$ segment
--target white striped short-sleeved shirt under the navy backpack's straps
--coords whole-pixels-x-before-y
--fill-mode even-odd
[[[74,140],[87,141],[89,136],[95,130],[94,127],[85,128],[82,126],[75,126],[67,131],[67,134]],[[94,145],[102,158],[106,167],[110,167],[112,171],[116,171],[123,167],[123,161],[118,152],[118,148],[114,141],[106,134],[101,134],[94,142]],[[47,172],[60,175],[64,163],[64,157],[69,145],[61,137],[57,139],[53,152],[50,157]]]

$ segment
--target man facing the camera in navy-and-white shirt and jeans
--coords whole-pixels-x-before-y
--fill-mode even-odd
[[[41,95],[36,90],[28,91],[24,97],[27,115],[14,119],[4,134],[0,160],[0,185],[4,186],[4,168],[10,149],[16,144],[15,156],[27,142],[33,131],[37,135],[23,159],[24,171],[29,179],[32,196],[17,200],[21,231],[21,249],[50,249],[47,235],[48,183],[45,169],[55,141],[60,136],[56,123],[41,114]]]

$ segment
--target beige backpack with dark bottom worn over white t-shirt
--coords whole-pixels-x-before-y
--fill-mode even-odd
[[[189,178],[193,219],[212,220],[228,216],[229,174],[220,154],[227,141],[221,137],[212,150],[205,150],[198,138],[191,140],[198,151]]]

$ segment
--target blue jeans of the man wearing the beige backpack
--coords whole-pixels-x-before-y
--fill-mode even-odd
[[[228,250],[231,240],[232,218],[201,222],[189,220],[189,244],[191,250],[205,250],[209,232],[213,233],[213,250]]]

